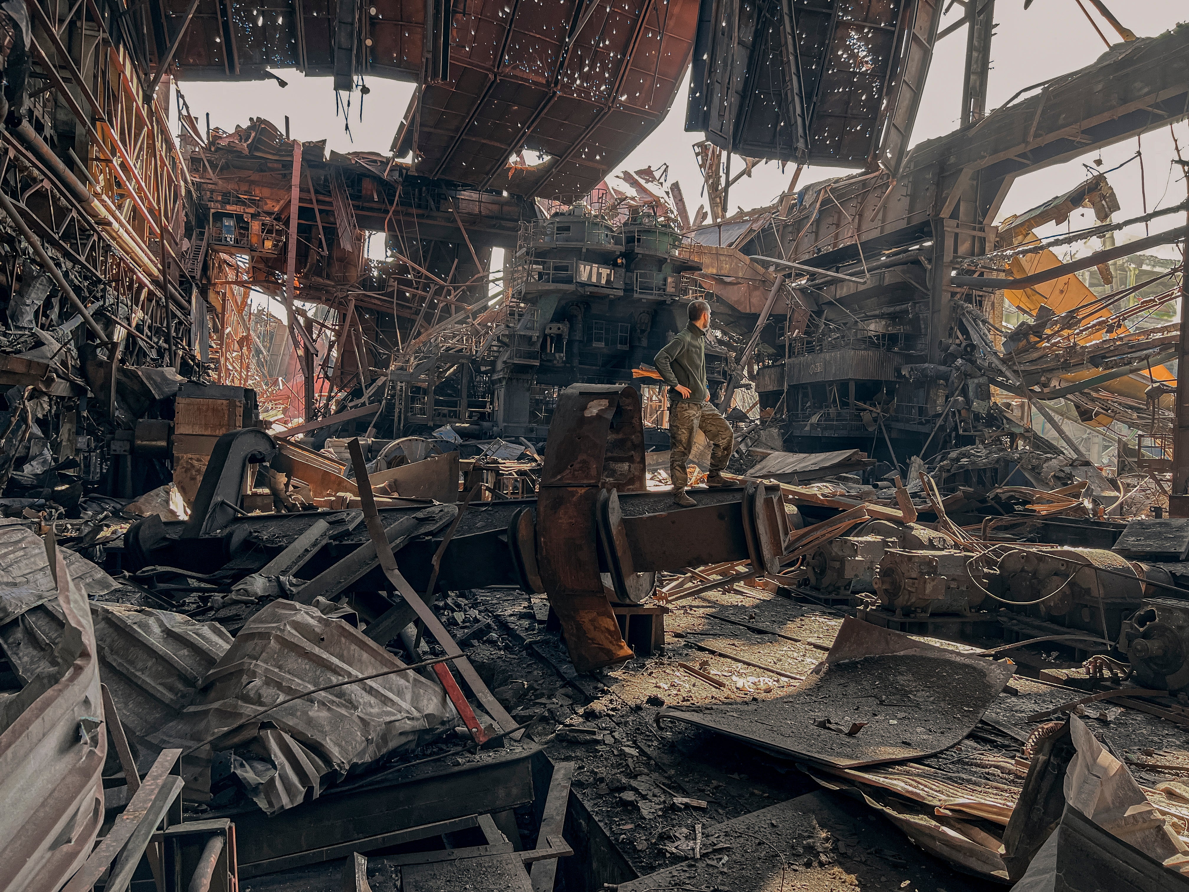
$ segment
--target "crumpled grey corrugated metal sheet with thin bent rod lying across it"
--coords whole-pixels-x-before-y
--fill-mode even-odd
[[[219,749],[238,745],[271,760],[276,773],[269,777],[232,760],[254,802],[271,815],[300,804],[310,787],[316,796],[352,768],[423,746],[453,728],[458,712],[440,685],[403,672],[321,691],[241,722],[295,691],[401,665],[353,626],[304,604],[273,601],[249,620],[206,673],[197,703],[162,728],[159,739],[187,750],[212,741]],[[265,722],[275,729],[260,728]]]

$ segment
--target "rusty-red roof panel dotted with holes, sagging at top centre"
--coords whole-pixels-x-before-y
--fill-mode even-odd
[[[413,151],[426,176],[518,195],[584,194],[668,111],[696,12],[694,0],[487,0],[457,19],[448,80],[413,100],[397,151]],[[541,162],[510,163],[526,149]]]

